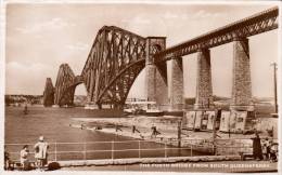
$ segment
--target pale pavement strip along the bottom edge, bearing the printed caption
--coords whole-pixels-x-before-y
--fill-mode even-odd
[[[218,173],[259,173],[277,172],[278,164],[269,161],[222,161],[183,162],[163,164],[131,164],[107,166],[63,167],[63,171],[140,171],[140,172],[218,172]]]

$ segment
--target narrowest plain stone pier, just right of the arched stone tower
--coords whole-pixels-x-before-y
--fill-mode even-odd
[[[183,109],[183,66],[182,57],[171,59],[171,86],[169,105],[171,111]]]

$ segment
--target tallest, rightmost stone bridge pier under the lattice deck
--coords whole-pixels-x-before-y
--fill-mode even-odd
[[[247,38],[234,38],[231,110],[253,111],[249,46]]]

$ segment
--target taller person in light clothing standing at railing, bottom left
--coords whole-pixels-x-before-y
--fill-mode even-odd
[[[36,165],[40,171],[42,171],[43,166],[48,163],[47,162],[48,148],[49,148],[49,145],[48,145],[48,143],[44,142],[44,137],[40,136],[39,142],[35,145]]]

